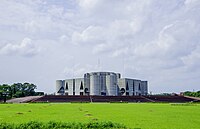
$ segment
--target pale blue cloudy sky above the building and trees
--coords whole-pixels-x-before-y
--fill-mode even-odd
[[[200,0],[1,0],[0,84],[86,72],[147,80],[149,92],[200,90]]]

